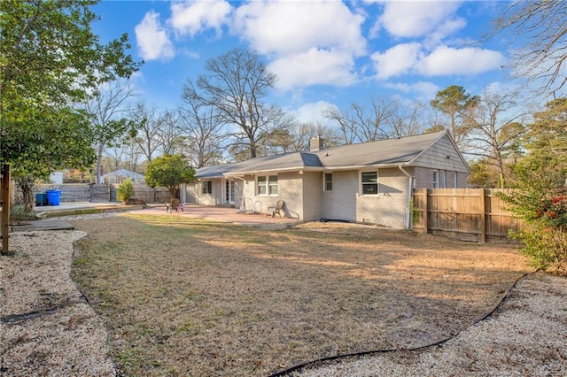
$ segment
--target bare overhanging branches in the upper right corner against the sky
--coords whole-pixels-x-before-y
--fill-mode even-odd
[[[563,0],[517,1],[495,20],[487,38],[511,31],[524,40],[524,45],[515,50],[510,68],[516,76],[536,81],[543,94],[555,93],[567,82],[566,25],[567,2]]]

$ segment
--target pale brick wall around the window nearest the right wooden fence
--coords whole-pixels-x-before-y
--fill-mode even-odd
[[[400,169],[378,169],[379,193],[377,196],[357,196],[356,221],[384,227],[406,226],[408,177],[400,174]]]

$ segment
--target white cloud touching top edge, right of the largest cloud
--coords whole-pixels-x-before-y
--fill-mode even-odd
[[[446,28],[447,22],[455,26],[450,18],[460,5],[457,1],[388,1],[378,22],[397,37],[430,35],[439,25]]]

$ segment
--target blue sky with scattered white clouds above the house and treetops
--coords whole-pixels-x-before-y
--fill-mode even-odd
[[[505,35],[479,42],[503,1],[112,1],[94,11],[103,42],[128,33],[139,99],[162,109],[180,103],[183,84],[206,60],[240,47],[276,73],[269,102],[300,121],[322,121],[371,97],[428,103],[449,85],[472,94],[504,85]]]

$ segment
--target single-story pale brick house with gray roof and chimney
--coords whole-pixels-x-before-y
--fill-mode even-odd
[[[287,217],[409,227],[412,188],[465,188],[470,169],[446,131],[206,166],[188,198],[266,212],[283,199]],[[188,200],[190,201],[190,200]]]

